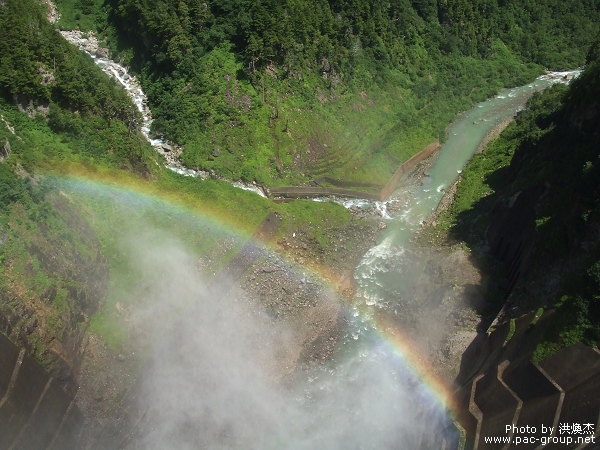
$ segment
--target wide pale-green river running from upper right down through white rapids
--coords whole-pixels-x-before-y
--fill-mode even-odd
[[[439,341],[445,328],[435,311],[440,303],[431,297],[447,293],[430,291],[423,295],[419,284],[428,283],[428,276],[424,277],[423,272],[436,255],[427,251],[424,255],[411,241],[488,133],[522,110],[533,92],[557,82],[566,83],[579,73],[576,70],[546,74],[525,86],[504,89],[494,98],[460,114],[448,128],[447,141],[420,185],[401,187],[392,195],[390,202],[402,202],[402,208],[394,208],[399,212],[390,212],[382,203],[346,202],[347,206],[375,206],[387,228],[379,233],[377,245],[364,255],[355,270],[357,296],[351,306],[348,332],[336,358],[342,361],[360,355],[358,366],[365,362],[375,365],[392,374],[398,384],[411,387],[401,394],[393,389],[386,394],[396,401],[402,396],[405,405],[412,405],[412,408],[401,408],[407,422],[400,424],[399,421],[399,426],[403,428],[402,425],[408,423],[409,428],[396,436],[397,442],[404,442],[397,448],[411,448],[422,439],[421,442],[429,440],[429,443],[421,448],[440,448],[442,438],[448,444],[458,439],[458,431],[442,398],[447,389],[436,384],[430,362],[422,361],[428,358],[427,347],[431,350],[431,341],[438,344],[435,341]],[[332,373],[352,376],[339,368],[332,369]],[[383,397],[385,395],[374,396],[373,401],[384,404]],[[384,423],[389,427],[387,432],[393,434],[396,429],[389,422]]]

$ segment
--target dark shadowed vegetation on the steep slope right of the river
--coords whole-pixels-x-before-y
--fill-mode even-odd
[[[490,211],[515,194],[547,189],[535,210],[529,273],[510,294],[517,314],[556,308],[539,360],[575,342],[600,341],[600,41],[567,88],[535,94],[527,110],[462,174],[439,231],[485,246]],[[498,266],[493,270],[498,273]],[[497,311],[497,309],[496,309]]]

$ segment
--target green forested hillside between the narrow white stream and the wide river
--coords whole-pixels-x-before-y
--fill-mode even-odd
[[[268,184],[382,183],[472,102],[580,66],[600,22],[598,0],[58,5],[143,75],[186,165]]]

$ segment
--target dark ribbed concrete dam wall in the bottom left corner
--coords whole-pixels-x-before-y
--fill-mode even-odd
[[[75,450],[85,420],[76,392],[0,333],[0,450]]]

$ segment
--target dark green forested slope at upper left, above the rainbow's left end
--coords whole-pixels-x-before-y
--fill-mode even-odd
[[[138,133],[139,113],[126,92],[48,23],[45,5],[0,5],[0,102],[59,134],[55,159],[75,158],[149,173],[150,147]],[[12,114],[12,113],[8,113]],[[6,131],[6,130],[5,130]],[[41,149],[40,149],[41,150]],[[68,156],[67,156],[68,155]],[[36,156],[41,157],[41,153]],[[41,164],[32,153],[24,155]]]

